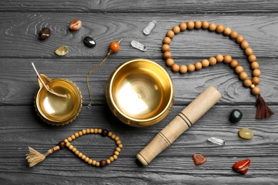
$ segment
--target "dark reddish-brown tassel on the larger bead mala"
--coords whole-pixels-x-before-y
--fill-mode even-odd
[[[259,94],[257,99],[257,119],[264,119],[270,117],[274,112],[267,106],[267,103],[264,101],[264,98]]]

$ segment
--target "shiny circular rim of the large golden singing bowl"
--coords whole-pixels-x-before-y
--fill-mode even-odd
[[[116,106],[115,104],[115,101],[113,100],[113,95],[112,95],[112,85],[111,82],[113,82],[113,80],[115,79],[115,75],[118,73],[118,71],[120,71],[123,67],[125,67],[125,65],[128,65],[130,63],[135,63],[135,62],[138,62],[138,61],[143,61],[143,62],[148,62],[148,63],[152,63],[153,65],[156,65],[158,66],[158,68],[160,68],[160,70],[163,70],[163,73],[165,73],[165,75],[167,76],[167,79],[168,79],[168,82],[170,84],[170,96],[169,96],[169,100],[168,100],[168,103],[167,105],[165,105],[164,109],[158,114],[158,115],[155,115],[154,117],[150,117],[148,119],[135,119],[133,117],[130,117],[128,115],[125,115],[122,111],[120,111],[120,109],[118,108],[118,106]],[[151,122],[151,121],[155,121],[155,120],[158,120],[159,117],[161,117],[162,115],[165,114],[165,112],[167,112],[173,105],[173,101],[174,101],[174,86],[173,86],[173,80],[170,76],[170,74],[168,73],[168,71],[163,68],[162,65],[160,65],[159,63],[153,61],[153,60],[149,60],[149,59],[146,59],[146,58],[134,58],[132,60],[128,60],[128,61],[125,61],[123,63],[121,63],[120,65],[118,65],[117,68],[115,68],[115,70],[113,71],[113,73],[110,75],[110,80],[108,80],[108,91],[109,91],[109,99],[110,99],[110,102],[111,104],[113,105],[113,107],[117,110],[117,112],[120,113],[121,116],[125,117],[126,119],[132,121],[132,122],[138,122],[138,123],[143,123],[143,122]],[[107,92],[107,89],[106,89],[106,92]],[[106,98],[108,100],[108,98]],[[108,105],[109,105],[109,102],[108,102]],[[167,114],[166,114],[167,115]],[[154,122],[153,124],[151,125],[154,125],[156,122]],[[141,125],[141,124],[140,124]],[[142,125],[141,125],[142,126]]]

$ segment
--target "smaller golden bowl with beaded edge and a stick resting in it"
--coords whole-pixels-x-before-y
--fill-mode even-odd
[[[40,89],[35,96],[35,108],[39,117],[50,125],[67,125],[76,119],[82,107],[81,91],[76,84],[66,78],[49,79],[46,75],[40,74],[41,80],[48,87],[44,87],[38,78]],[[60,97],[59,95],[66,95]]]

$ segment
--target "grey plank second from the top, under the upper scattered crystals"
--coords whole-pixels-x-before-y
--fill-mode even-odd
[[[111,41],[124,38],[118,55],[125,58],[161,58],[160,48],[166,32],[182,21],[201,20],[221,23],[244,36],[258,58],[277,58],[277,14],[248,15],[180,15],[180,14],[56,14],[56,13],[0,13],[1,58],[61,58],[54,53],[61,45],[69,47],[63,58],[102,58]],[[80,18],[83,26],[79,31],[68,31],[68,24]],[[137,21],[134,21],[137,20]],[[150,36],[143,34],[149,21],[158,21]],[[38,39],[41,28],[51,28],[51,37]],[[96,40],[96,48],[87,48],[83,37]],[[137,51],[130,46],[136,40],[145,44],[148,51]],[[218,53],[244,57],[240,46],[222,34],[207,30],[185,31],[173,38],[170,44],[173,58],[209,58]]]

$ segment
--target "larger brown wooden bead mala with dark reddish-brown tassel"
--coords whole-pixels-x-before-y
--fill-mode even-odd
[[[241,65],[238,64],[237,60],[233,60],[231,56],[222,56],[218,54],[216,57],[210,57],[208,60],[204,59],[202,62],[197,62],[195,64],[190,63],[189,65],[177,65],[174,63],[173,58],[171,58],[170,46],[169,44],[172,41],[172,38],[180,31],[185,31],[186,29],[192,30],[195,29],[208,29],[209,31],[216,31],[217,33],[222,33],[224,36],[229,36],[232,39],[235,39],[235,42],[240,44],[240,47],[244,50],[246,56],[248,56],[248,61],[251,63],[252,68],[252,79],[248,78],[247,73],[244,72]],[[261,71],[259,68],[259,63],[257,63],[257,57],[254,56],[252,48],[249,48],[249,43],[244,41],[243,36],[239,36],[237,31],[231,31],[230,28],[225,28],[222,24],[216,25],[215,23],[208,23],[207,21],[188,21],[187,23],[180,23],[179,26],[174,26],[172,30],[169,30],[166,33],[165,38],[163,39],[163,46],[161,48],[163,51],[163,58],[166,59],[166,65],[170,66],[173,72],[187,73],[193,72],[194,70],[200,70],[201,68],[206,68],[209,65],[215,65],[216,63],[227,63],[230,64],[232,68],[235,68],[235,73],[240,77],[240,80],[243,80],[243,85],[247,88],[252,89],[252,94],[257,95],[257,119],[263,119],[265,117],[270,117],[274,114],[272,110],[269,109],[266,102],[260,95],[260,89],[256,85],[259,84],[259,75]]]

